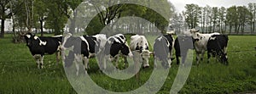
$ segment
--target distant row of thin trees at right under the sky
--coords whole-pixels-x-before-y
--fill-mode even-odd
[[[186,4],[186,10],[174,14],[171,24],[176,30],[183,27],[198,28],[202,33],[220,32],[243,35],[255,33],[256,3],[247,6],[200,7]]]

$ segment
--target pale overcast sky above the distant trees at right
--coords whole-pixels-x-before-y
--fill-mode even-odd
[[[197,4],[200,7],[205,7],[209,5],[211,7],[225,7],[229,8],[233,5],[246,5],[247,3],[256,3],[256,0],[168,0],[170,1],[176,8],[176,11],[181,13],[185,10],[184,6],[186,4]]]

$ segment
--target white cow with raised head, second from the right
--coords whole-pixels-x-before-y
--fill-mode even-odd
[[[196,63],[199,64],[199,60],[202,60],[205,52],[207,51],[207,42],[212,35],[220,35],[219,33],[201,34],[199,30],[189,30],[192,34],[192,38],[195,41],[195,53]],[[201,55],[201,56],[200,56]]]

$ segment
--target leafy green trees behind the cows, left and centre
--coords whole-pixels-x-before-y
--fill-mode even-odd
[[[105,25],[114,25],[114,22],[121,17],[137,16],[147,19],[152,24],[125,24],[114,25],[118,28],[126,28],[137,26],[136,29],[145,29],[144,27],[157,26],[160,30],[166,30],[169,25],[168,20],[160,17],[160,14],[151,8],[136,4],[119,4],[120,2],[138,2],[137,0],[1,0],[0,1],[0,19],[1,33],[0,37],[4,37],[4,23],[6,19],[12,19],[12,31],[15,41],[20,41],[21,33],[32,32],[40,33],[44,36],[44,29],[48,29],[55,35],[62,34],[65,26],[69,25],[71,33],[76,31],[84,31],[93,35],[98,33]],[[167,0],[141,0],[140,3],[147,4],[155,8],[161,8],[162,13],[167,13],[168,18],[172,17],[174,7]],[[84,4],[81,9],[76,9],[80,4]],[[113,5],[113,6],[108,6]],[[83,10],[83,11],[79,11]],[[99,14],[95,16],[89,23],[84,16],[90,15],[91,11],[97,11]],[[68,22],[69,20],[69,22]],[[87,25],[89,24],[89,25]],[[87,25],[87,28],[85,26]]]

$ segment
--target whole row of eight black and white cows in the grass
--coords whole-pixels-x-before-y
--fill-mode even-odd
[[[164,68],[172,65],[172,50],[175,49],[177,64],[185,64],[185,58],[189,49],[195,49],[196,63],[199,64],[207,51],[208,62],[211,57],[217,58],[223,64],[228,64],[227,44],[228,36],[219,33],[201,34],[199,30],[191,29],[189,34],[178,35],[174,40],[173,34],[158,36],[154,40],[153,52],[149,51],[149,44],[145,36],[131,36],[128,44],[123,34],[106,36],[97,34],[95,36],[73,36],[68,33],[65,36],[38,37],[27,33],[26,46],[36,59],[38,68],[44,67],[44,55],[56,53],[57,61],[60,59],[61,50],[68,50],[68,54],[62,55],[65,67],[75,63],[77,75],[79,75],[79,62],[83,62],[84,72],[89,69],[89,59],[96,57],[101,69],[107,68],[108,62],[113,62],[118,68],[119,58],[125,58],[124,64],[128,64],[127,58],[133,58],[134,63],[142,64],[143,68],[149,67],[149,58],[154,54],[154,66],[157,63]]]

